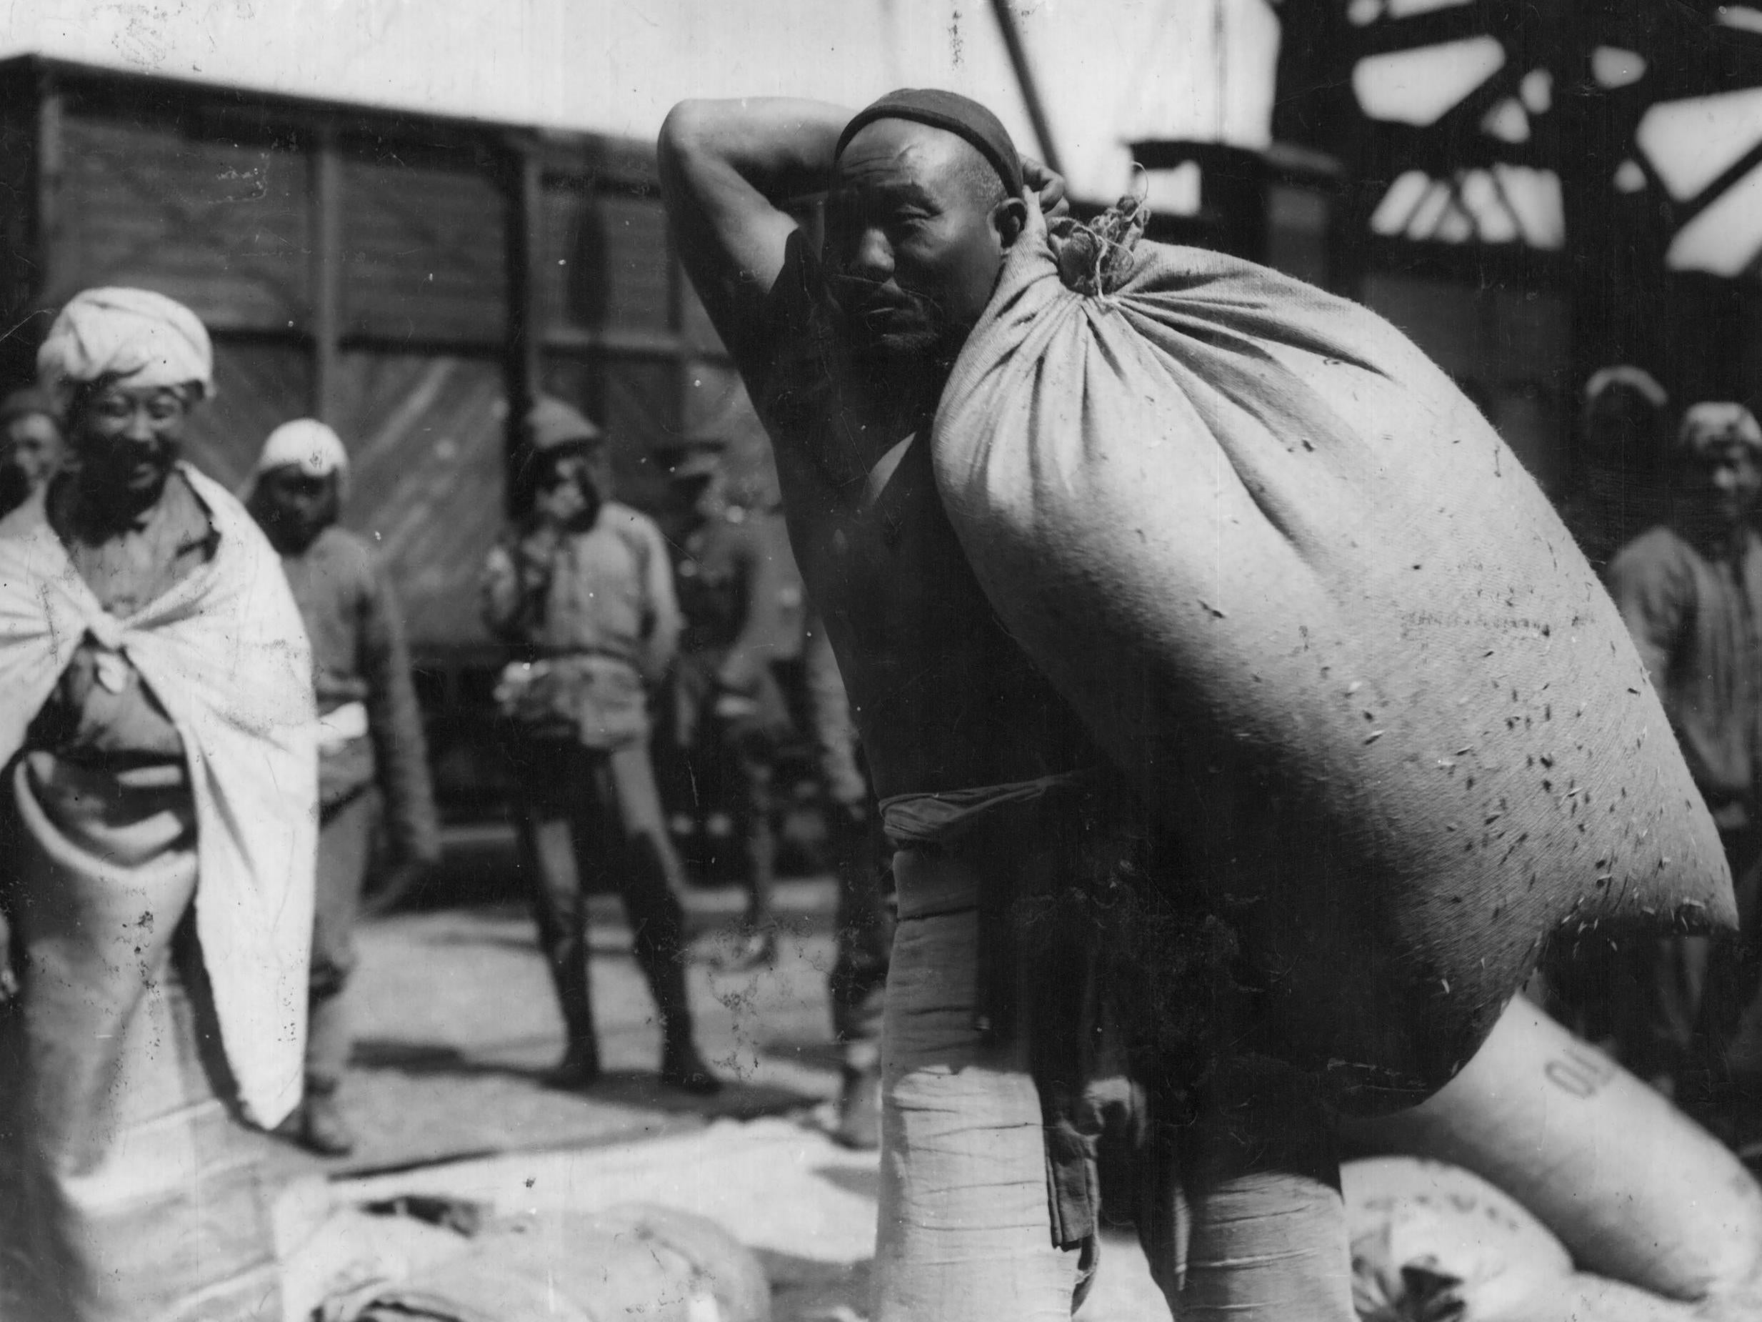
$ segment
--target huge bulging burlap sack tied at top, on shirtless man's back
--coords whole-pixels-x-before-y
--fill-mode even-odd
[[[1561,924],[1730,925],[1612,603],[1448,377],[1276,271],[1128,266],[1066,287],[1031,217],[936,479],[1003,622],[1232,902],[1270,1049],[1410,1103]]]

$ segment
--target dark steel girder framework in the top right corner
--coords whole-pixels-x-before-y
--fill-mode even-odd
[[[1721,11],[1730,11],[1723,21]],[[1336,270],[1431,263],[1485,282],[1489,270],[1510,271],[1515,261],[1519,280],[1551,284],[1568,298],[1581,381],[1612,358],[1669,358],[1663,340],[1684,314],[1665,305],[1688,298],[1693,316],[1729,323],[1700,328],[1697,338],[1714,356],[1700,365],[1702,375],[1737,377],[1743,314],[1732,282],[1670,275],[1665,254],[1695,217],[1762,167],[1762,132],[1716,178],[1679,197],[1640,150],[1637,130],[1662,102],[1762,86],[1762,0],[1447,0],[1427,9],[1411,0],[1283,0],[1277,12],[1274,137],[1343,166]],[[1360,106],[1353,86],[1360,60],[1485,37],[1499,44],[1503,63],[1431,123],[1378,120]],[[1644,67],[1610,86],[1595,72],[1600,48],[1630,51]],[[1528,113],[1528,134],[1508,141],[1487,132],[1489,111],[1519,97],[1531,71],[1549,74],[1551,92],[1545,109]],[[1371,215],[1401,175],[1448,182],[1498,166],[1558,176],[1565,227],[1558,252],[1373,236]]]

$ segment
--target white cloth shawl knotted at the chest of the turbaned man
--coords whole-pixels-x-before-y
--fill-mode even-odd
[[[0,765],[86,635],[123,652],[183,737],[196,795],[196,931],[245,1114],[300,1100],[317,850],[312,661],[282,566],[245,508],[180,465],[213,559],[129,619],[74,569],[39,494],[0,520]]]

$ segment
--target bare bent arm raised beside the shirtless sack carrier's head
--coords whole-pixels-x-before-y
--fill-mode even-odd
[[[819,100],[682,100],[661,125],[661,194],[685,273],[722,344],[761,367],[761,312],[795,220],[782,203],[826,187],[855,111]]]

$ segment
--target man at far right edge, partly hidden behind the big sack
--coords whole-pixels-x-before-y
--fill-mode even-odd
[[[1667,938],[1644,957],[1626,1063],[1681,1100],[1721,1100],[1725,1047],[1757,991],[1762,899],[1762,427],[1741,404],[1695,404],[1677,430],[1679,508],[1628,543],[1609,590],[1663,698],[1688,769],[1720,827],[1741,936]]]

